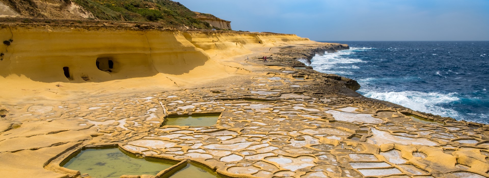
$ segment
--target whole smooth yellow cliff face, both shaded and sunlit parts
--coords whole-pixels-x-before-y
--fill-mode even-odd
[[[52,82],[79,83],[69,86],[82,88],[90,85],[83,83],[121,79],[128,82],[119,82],[119,87],[150,86],[141,79],[170,88],[175,86],[168,83],[175,81],[192,85],[247,73],[239,64],[223,65],[218,59],[248,54],[256,47],[313,42],[283,34],[57,24],[3,24],[0,36],[2,41],[12,40],[0,48],[0,80],[8,84],[2,86],[4,91],[14,93],[30,85],[57,90],[47,84]]]

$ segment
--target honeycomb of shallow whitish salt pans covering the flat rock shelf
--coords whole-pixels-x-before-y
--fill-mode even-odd
[[[487,132],[479,127],[450,121],[424,124],[395,110],[383,114],[385,110],[362,104],[322,102],[324,98],[297,93],[288,86],[313,85],[308,79],[299,83],[280,75],[278,80],[258,77],[250,81],[248,86],[221,86],[219,93],[212,87],[78,101],[76,111],[44,103],[58,109],[42,114],[62,118],[29,121],[2,133],[0,151],[13,156],[22,153],[19,150],[49,147],[48,142],[91,139],[86,143],[119,143],[135,154],[190,158],[229,176],[487,176],[489,144]],[[273,87],[276,93],[251,93],[250,89],[272,91],[259,90],[256,86],[261,83],[266,85],[258,86]],[[302,97],[283,97],[286,94]],[[30,110],[32,106],[22,108],[25,113],[14,117],[40,118],[26,114],[39,113]],[[160,126],[164,113],[216,112],[221,117],[210,127]],[[28,128],[48,125],[40,130],[52,134],[23,134]],[[97,133],[100,136],[90,137]]]

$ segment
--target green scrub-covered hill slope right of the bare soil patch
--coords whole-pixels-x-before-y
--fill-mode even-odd
[[[209,23],[172,0],[72,0],[99,20],[151,21],[164,25],[211,29]],[[212,15],[205,14],[213,17]]]

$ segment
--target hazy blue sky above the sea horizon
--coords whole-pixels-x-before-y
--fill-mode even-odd
[[[233,30],[311,40],[489,40],[489,0],[174,0]]]

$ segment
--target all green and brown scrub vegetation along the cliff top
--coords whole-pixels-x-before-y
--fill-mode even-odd
[[[37,0],[1,0],[23,17],[50,19],[46,11],[46,2]],[[183,4],[172,0],[51,0],[57,2],[54,13],[62,14],[72,5],[80,6],[83,13],[89,15],[86,20],[146,21],[162,25],[212,29],[198,16],[216,18],[211,14],[196,13]],[[52,9],[52,7],[51,7]],[[66,17],[66,16],[65,16]],[[67,19],[70,19],[67,17]],[[217,18],[216,18],[217,19]]]

